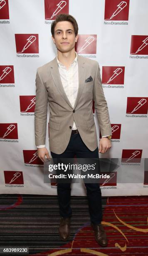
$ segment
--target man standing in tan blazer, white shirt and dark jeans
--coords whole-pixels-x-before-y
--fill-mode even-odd
[[[49,148],[52,158],[99,158],[111,148],[111,123],[101,85],[97,61],[76,54],[78,25],[71,15],[58,15],[51,26],[52,40],[57,48],[55,59],[37,69],[35,142],[39,158],[50,158],[45,147],[47,103],[49,102]],[[92,104],[99,120],[101,140],[98,149]],[[70,235],[70,183],[57,184],[59,235],[67,241]],[[96,241],[107,245],[101,225],[101,189],[99,183],[85,184],[89,200],[91,226]]]

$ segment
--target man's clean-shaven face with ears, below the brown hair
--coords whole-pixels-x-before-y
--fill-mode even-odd
[[[52,36],[52,40],[57,49],[64,53],[74,48],[78,40],[78,35],[75,36],[74,27],[71,22],[59,21],[54,28],[54,37]]]

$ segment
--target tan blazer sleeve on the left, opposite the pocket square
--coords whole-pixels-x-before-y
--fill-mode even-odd
[[[48,92],[37,69],[35,100],[35,144],[44,145],[46,140]]]

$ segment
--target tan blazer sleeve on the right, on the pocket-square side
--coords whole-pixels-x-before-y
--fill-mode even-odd
[[[100,67],[97,62],[96,76],[94,79],[94,88],[93,88],[93,100],[94,108],[96,110],[96,115],[98,118],[101,136],[112,135],[111,133],[111,123],[109,119],[109,110],[107,102],[104,96],[104,91],[101,82],[100,76]]]

